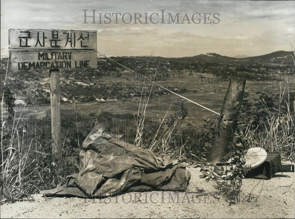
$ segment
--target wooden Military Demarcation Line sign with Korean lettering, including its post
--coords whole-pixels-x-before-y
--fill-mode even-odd
[[[61,154],[59,69],[97,68],[96,31],[10,29],[10,61],[18,70],[49,70],[53,152]]]

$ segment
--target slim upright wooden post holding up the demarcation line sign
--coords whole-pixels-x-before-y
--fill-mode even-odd
[[[61,154],[61,121],[60,121],[60,90],[59,69],[49,70],[50,77],[50,110],[51,110],[51,134],[53,138],[53,154]]]

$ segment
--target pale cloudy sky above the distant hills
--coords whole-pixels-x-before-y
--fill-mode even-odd
[[[220,13],[219,24],[82,24],[82,9],[111,13]],[[256,56],[295,46],[295,1],[1,0],[1,48],[8,29],[97,30],[98,51],[114,56]],[[1,56],[8,49],[1,50]]]

